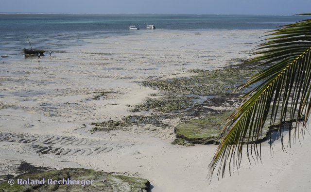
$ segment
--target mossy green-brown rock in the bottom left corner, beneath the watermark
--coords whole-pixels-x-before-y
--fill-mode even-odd
[[[17,179],[28,178],[30,180],[42,180],[51,178],[53,180],[94,180],[92,185],[17,185]],[[48,171],[35,174],[19,175],[13,178],[15,183],[9,185],[6,180],[0,183],[1,192],[147,192],[150,182],[146,179],[113,176],[109,173],[88,169],[66,168],[57,171]]]

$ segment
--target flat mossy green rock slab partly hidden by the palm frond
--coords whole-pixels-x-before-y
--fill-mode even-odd
[[[174,129],[176,137],[192,144],[212,144],[221,133],[221,124],[231,113],[231,111],[227,111],[181,123]]]

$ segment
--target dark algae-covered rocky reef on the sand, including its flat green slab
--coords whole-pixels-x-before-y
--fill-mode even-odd
[[[242,63],[242,60],[241,60]],[[240,84],[263,67],[232,65],[215,70],[190,70],[190,77],[150,78],[141,82],[158,90],[144,103],[131,107],[133,115],[121,121],[92,123],[92,131],[109,131],[130,126],[168,127],[169,119],[181,123],[174,128],[176,140],[172,144],[213,144],[221,132],[221,124],[239,104],[238,99],[248,89],[231,94]],[[135,115],[149,112],[148,116]]]

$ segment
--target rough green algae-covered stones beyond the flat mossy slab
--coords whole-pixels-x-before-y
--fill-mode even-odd
[[[231,66],[215,70],[190,70],[190,77],[150,79],[143,86],[158,89],[158,98],[148,98],[136,105],[131,112],[154,110],[157,112],[178,112],[195,107],[200,96],[227,96],[240,84],[258,72],[260,67]]]

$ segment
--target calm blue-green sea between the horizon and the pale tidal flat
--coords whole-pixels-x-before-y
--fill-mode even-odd
[[[20,54],[20,48],[55,49],[84,44],[82,39],[135,34],[130,25],[147,30],[255,30],[276,29],[307,16],[245,15],[78,15],[1,14],[0,56]]]

